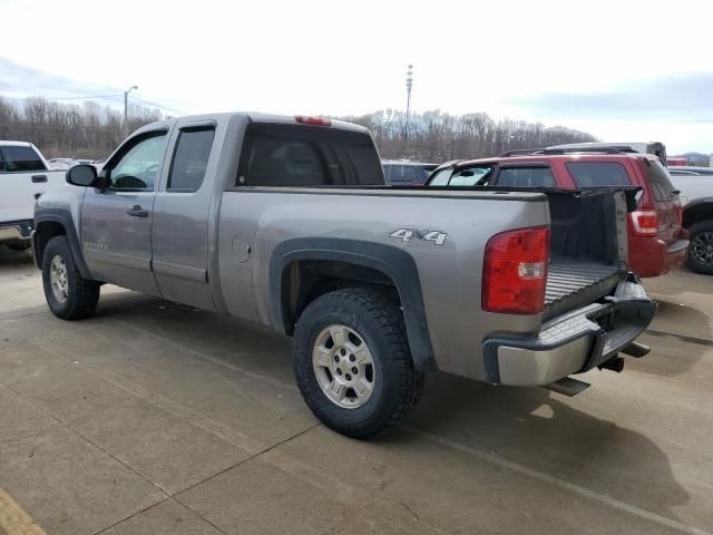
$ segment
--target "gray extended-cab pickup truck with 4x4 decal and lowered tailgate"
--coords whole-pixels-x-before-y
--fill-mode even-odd
[[[390,188],[367,129],[244,113],[145,126],[67,182],[32,237],[57,317],[90,317],[113,283],[271,325],[351,437],[409,414],[427,372],[572,395],[568,376],[647,349],[633,191]]]

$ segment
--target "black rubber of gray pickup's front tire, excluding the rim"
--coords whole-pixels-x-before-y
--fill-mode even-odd
[[[60,256],[67,272],[67,298],[59,301],[52,291],[50,266],[56,256]],[[42,285],[45,299],[52,313],[62,320],[81,320],[94,315],[99,302],[100,283],[81,276],[67,236],[52,237],[42,254]]]

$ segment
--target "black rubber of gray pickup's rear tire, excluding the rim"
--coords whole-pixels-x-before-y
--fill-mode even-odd
[[[373,390],[364,405],[343,408],[322,391],[312,364],[320,332],[341,324],[354,330],[373,358]],[[293,367],[302,396],[326,427],[352,438],[371,438],[404,419],[418,403],[423,374],[416,370],[401,310],[379,292],[343,289],[311,302],[297,320]]]

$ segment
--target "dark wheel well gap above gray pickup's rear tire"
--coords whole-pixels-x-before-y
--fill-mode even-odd
[[[302,311],[315,299],[342,288],[371,288],[401,304],[393,280],[373,268],[332,260],[299,260],[282,272],[281,302],[285,332],[292,335]]]

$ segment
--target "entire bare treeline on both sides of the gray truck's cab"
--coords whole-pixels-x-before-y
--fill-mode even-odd
[[[126,132],[163,118],[158,109],[136,104],[130,104],[128,115],[125,129],[121,111],[94,101],[77,105],[35,97],[21,101],[0,97],[0,139],[31,142],[48,158],[102,158],[121,143]],[[561,126],[433,110],[412,114],[407,143],[402,111],[387,109],[340,118],[369,128],[383,158],[440,163],[492,156],[515,148],[596,140],[589,134]]]

